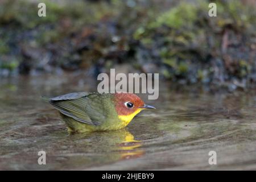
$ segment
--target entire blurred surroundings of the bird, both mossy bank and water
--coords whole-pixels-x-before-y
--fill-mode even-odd
[[[0,0],[0,170],[255,170],[255,30],[255,0]],[[97,92],[110,68],[159,73],[159,98],[139,95],[157,109],[68,133],[41,96]]]

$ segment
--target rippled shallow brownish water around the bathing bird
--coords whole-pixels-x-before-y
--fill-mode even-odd
[[[159,99],[147,102],[157,109],[126,129],[68,133],[40,96],[93,92],[92,83],[76,75],[1,79],[0,169],[256,169],[255,91],[177,92],[162,83]],[[41,150],[46,165],[38,164]]]

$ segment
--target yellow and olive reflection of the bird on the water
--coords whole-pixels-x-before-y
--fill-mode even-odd
[[[73,148],[75,151],[89,152],[96,155],[98,160],[108,156],[102,161],[134,159],[144,155],[142,142],[135,140],[134,135],[126,129],[93,133],[69,132],[69,139],[76,141],[76,148]]]

